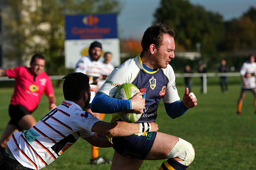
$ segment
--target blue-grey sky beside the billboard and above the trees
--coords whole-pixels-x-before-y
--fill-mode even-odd
[[[161,0],[120,0],[122,11],[118,16],[120,39],[141,39],[144,31],[154,21],[154,13]],[[189,0],[191,4],[203,6],[207,11],[218,12],[224,21],[239,18],[253,6],[255,0]]]

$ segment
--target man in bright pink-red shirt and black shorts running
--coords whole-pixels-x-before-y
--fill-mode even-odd
[[[44,93],[49,99],[49,109],[52,110],[56,107],[52,81],[43,71],[44,64],[44,56],[34,54],[30,61],[30,68],[17,66],[12,69],[0,69],[0,76],[15,78],[14,93],[9,106],[11,120],[2,133],[1,147],[6,146],[12,133],[30,129],[36,124],[31,113],[38,106]]]

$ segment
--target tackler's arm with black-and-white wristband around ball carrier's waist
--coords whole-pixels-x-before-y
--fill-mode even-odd
[[[142,129],[142,123],[127,123],[124,121],[109,123],[98,121],[92,126],[92,132],[101,133],[111,137],[122,137],[129,136],[134,133],[158,131],[158,125],[154,122],[143,123],[143,127],[144,128]]]

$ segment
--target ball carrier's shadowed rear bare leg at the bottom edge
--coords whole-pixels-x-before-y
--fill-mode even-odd
[[[144,160],[124,157],[115,151],[111,170],[138,170],[143,162]]]

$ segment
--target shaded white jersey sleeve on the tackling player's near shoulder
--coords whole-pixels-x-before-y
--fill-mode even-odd
[[[82,131],[82,133],[80,133],[81,138],[92,136],[94,134],[94,132],[92,132],[92,126],[94,123],[101,121],[87,111],[79,111],[71,116],[72,129],[73,131]]]

